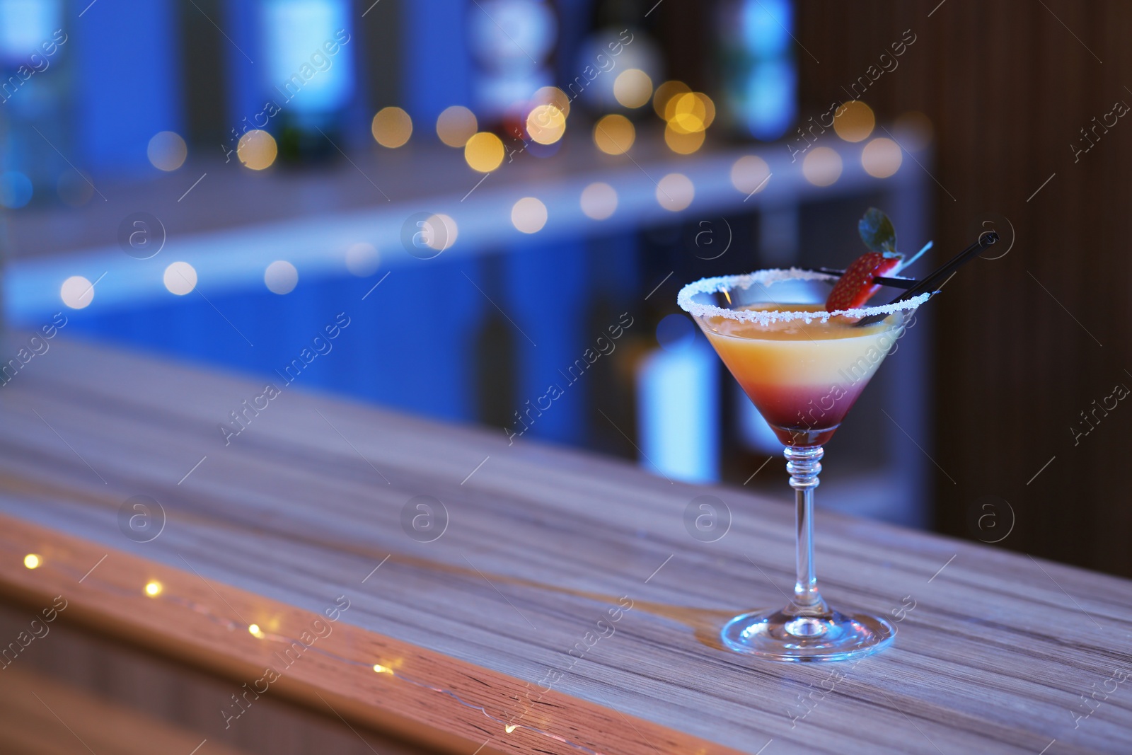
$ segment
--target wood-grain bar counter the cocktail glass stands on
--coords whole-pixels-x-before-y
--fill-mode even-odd
[[[895,644],[760,661],[718,633],[792,586],[786,486],[300,388],[62,337],[0,388],[0,749],[1132,752],[1126,581],[821,512],[823,592]]]

